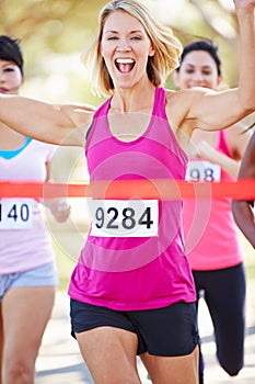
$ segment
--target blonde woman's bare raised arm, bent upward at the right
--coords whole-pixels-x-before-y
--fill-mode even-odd
[[[255,0],[235,0],[240,30],[239,87],[222,92],[201,88],[182,91],[194,128],[215,131],[233,125],[255,111]]]

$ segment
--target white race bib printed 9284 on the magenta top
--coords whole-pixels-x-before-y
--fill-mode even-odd
[[[92,236],[158,236],[158,200],[89,200]]]

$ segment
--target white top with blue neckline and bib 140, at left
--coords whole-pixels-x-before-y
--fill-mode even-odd
[[[55,146],[27,138],[16,150],[0,150],[1,181],[46,180]],[[43,266],[55,258],[51,239],[33,199],[0,200],[0,274]]]

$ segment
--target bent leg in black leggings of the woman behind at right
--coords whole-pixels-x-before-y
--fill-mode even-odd
[[[245,275],[243,264],[216,271],[206,291],[206,302],[215,327],[217,355],[228,372],[243,366],[245,335]]]

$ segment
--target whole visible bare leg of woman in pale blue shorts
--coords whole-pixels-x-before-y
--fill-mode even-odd
[[[35,361],[55,300],[54,286],[14,287],[2,301],[2,384],[33,384]]]

